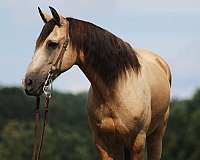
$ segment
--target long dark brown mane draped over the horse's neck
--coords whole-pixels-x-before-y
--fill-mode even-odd
[[[83,51],[85,62],[100,75],[106,84],[112,84],[128,68],[138,73],[140,64],[132,47],[112,33],[89,22],[66,18],[74,49]]]

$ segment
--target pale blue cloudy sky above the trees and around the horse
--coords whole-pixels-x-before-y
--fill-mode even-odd
[[[133,47],[160,54],[171,66],[172,95],[189,97],[200,87],[199,0],[7,0],[0,5],[0,85],[21,85],[43,23],[37,6],[55,7],[64,16],[99,25]],[[73,67],[61,75],[54,88],[79,92],[89,82]]]

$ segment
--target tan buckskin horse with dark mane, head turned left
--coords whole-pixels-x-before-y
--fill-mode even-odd
[[[24,81],[30,96],[77,65],[90,81],[88,121],[101,160],[159,160],[170,108],[171,72],[159,55],[133,48],[83,20],[39,9],[44,22]],[[62,51],[63,46],[66,46]]]

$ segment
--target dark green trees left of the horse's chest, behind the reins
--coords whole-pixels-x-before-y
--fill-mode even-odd
[[[27,97],[19,88],[0,89],[1,160],[31,159],[34,104],[34,98]],[[54,92],[49,107],[49,124],[41,159],[97,159],[87,123],[86,93]]]

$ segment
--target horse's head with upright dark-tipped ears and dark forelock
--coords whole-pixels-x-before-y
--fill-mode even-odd
[[[54,69],[56,68],[56,74],[53,75],[55,79],[77,60],[77,54],[73,52],[70,43],[69,22],[52,7],[50,7],[52,16],[38,9],[45,25],[37,39],[32,62],[28,66],[23,83],[25,92],[34,96],[43,93],[42,88],[52,65]],[[59,56],[61,52],[63,54]],[[59,59],[58,63],[56,63],[57,59]]]

